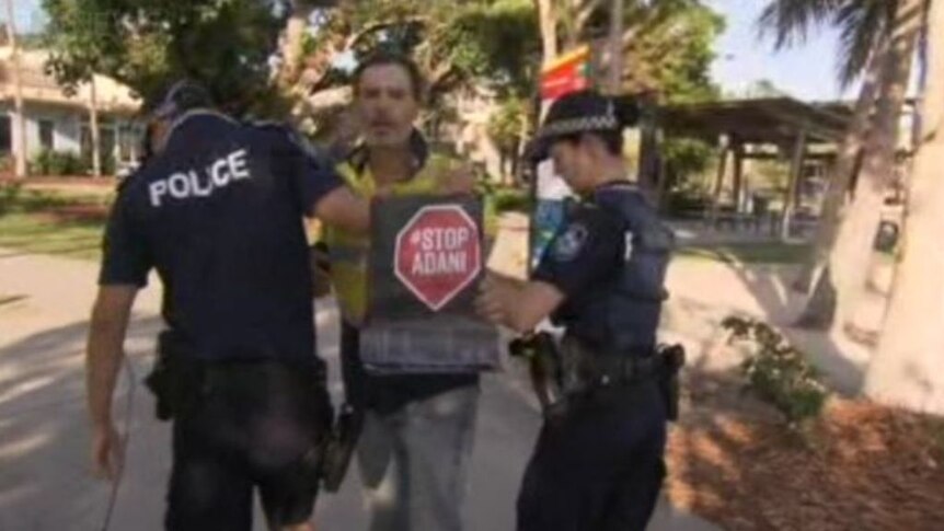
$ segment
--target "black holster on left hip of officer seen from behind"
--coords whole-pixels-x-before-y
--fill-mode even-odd
[[[177,334],[158,335],[158,353],[145,385],[154,394],[154,415],[159,420],[180,418],[199,397],[205,378],[203,362],[188,353]]]

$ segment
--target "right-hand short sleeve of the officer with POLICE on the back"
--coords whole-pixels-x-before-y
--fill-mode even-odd
[[[297,132],[287,130],[283,148],[291,161],[293,188],[301,200],[302,210],[312,213],[315,205],[327,194],[344,185],[327,153],[316,150]]]

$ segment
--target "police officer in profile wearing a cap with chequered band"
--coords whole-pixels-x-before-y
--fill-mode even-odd
[[[665,393],[656,328],[671,232],[626,181],[632,105],[592,91],[556,101],[538,159],[583,198],[528,282],[483,282],[480,313],[518,332],[564,326],[564,403],[555,404],[518,498],[519,531],[643,531],[664,477]]]

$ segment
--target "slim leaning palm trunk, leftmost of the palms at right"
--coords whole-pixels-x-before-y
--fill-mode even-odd
[[[829,250],[832,249],[836,242],[836,234],[839,231],[842,216],[842,207],[849,195],[852,174],[856,166],[855,161],[859,152],[862,150],[862,146],[865,143],[870,118],[872,117],[872,111],[875,108],[875,96],[878,92],[878,83],[886,62],[887,47],[888,38],[879,38],[875,54],[868,66],[868,73],[866,73],[865,80],[862,83],[859,100],[855,102],[852,122],[839,146],[839,154],[826,189],[826,197],[819,215],[819,223],[816,228],[813,249],[796,281],[793,284],[793,289],[796,291],[809,291],[814,279],[822,275],[826,262],[829,259]],[[818,280],[817,284],[819,285]],[[814,300],[822,300],[820,296],[810,298],[810,302],[807,303],[804,310],[805,315],[822,313],[820,308],[813,305]]]

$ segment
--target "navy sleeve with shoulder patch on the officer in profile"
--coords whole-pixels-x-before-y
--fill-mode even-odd
[[[599,208],[583,208],[551,240],[532,279],[551,284],[571,297],[613,275],[623,245],[618,220]]]

